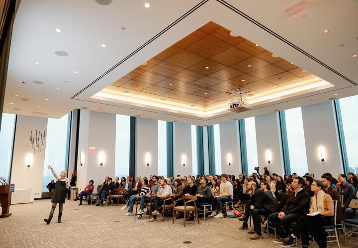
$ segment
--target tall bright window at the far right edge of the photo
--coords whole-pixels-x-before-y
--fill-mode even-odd
[[[358,173],[358,96],[339,99],[347,159],[347,173]]]

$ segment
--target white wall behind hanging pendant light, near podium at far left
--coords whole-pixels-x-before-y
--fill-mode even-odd
[[[15,188],[33,188],[34,197],[41,198],[46,146],[44,145],[42,152],[35,154],[35,157],[30,146],[30,132],[36,131],[37,128],[45,131],[47,118],[17,116],[10,181],[15,184]],[[32,160],[30,168],[27,167],[29,154]]]

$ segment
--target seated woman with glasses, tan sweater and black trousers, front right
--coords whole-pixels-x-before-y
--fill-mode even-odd
[[[323,190],[322,182],[314,180],[311,189],[314,192],[314,196],[311,198],[310,215],[299,217],[292,229],[292,234],[285,239],[281,239],[283,242],[281,247],[291,247],[294,239],[301,237],[302,247],[308,248],[309,233],[319,247],[327,247],[327,235],[324,226],[332,224],[333,201],[331,196]]]

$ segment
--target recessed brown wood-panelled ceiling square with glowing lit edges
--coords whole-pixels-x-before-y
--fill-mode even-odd
[[[318,77],[230,30],[209,22],[111,84],[122,94],[168,98],[188,106],[230,101],[241,87],[258,95],[307,84]],[[111,88],[113,90],[113,88]],[[123,94],[122,94],[123,95]],[[252,97],[252,96],[250,96]]]

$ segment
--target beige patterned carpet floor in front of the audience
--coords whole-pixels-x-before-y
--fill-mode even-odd
[[[123,205],[77,204],[66,200],[62,223],[57,223],[56,209],[50,225],[43,221],[51,208],[49,199],[12,205],[12,215],[0,219],[0,247],[280,247],[273,243],[273,235],[249,240],[247,230],[239,230],[241,222],[236,218],[200,219],[199,225],[191,221],[183,227],[182,219],[172,224],[171,218],[166,218],[164,223],[148,223],[146,215],[139,220],[125,217],[127,210],[120,210]],[[183,244],[186,241],[191,243]],[[341,247],[346,247],[344,239],[340,241]],[[347,247],[357,247],[352,239],[349,242]]]

